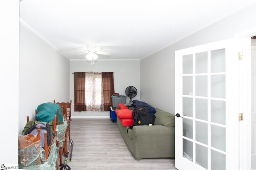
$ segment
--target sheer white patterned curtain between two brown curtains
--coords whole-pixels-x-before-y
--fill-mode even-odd
[[[86,110],[104,111],[104,96],[101,72],[85,73]]]

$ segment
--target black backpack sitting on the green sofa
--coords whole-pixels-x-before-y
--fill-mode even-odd
[[[150,107],[140,106],[134,107],[132,111],[133,125],[154,125],[156,116],[152,114]]]

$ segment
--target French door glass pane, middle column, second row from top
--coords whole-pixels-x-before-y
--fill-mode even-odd
[[[207,96],[207,76],[196,76],[196,96]]]

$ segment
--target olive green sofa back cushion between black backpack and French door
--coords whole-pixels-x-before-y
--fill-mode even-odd
[[[156,119],[154,121],[154,125],[163,125],[167,127],[175,126],[175,116],[167,111],[163,111],[160,109],[156,109],[155,113]]]

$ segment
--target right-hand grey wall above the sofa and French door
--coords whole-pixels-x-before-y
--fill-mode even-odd
[[[141,99],[174,114],[175,51],[234,37],[256,27],[256,4],[225,18],[140,61]]]

